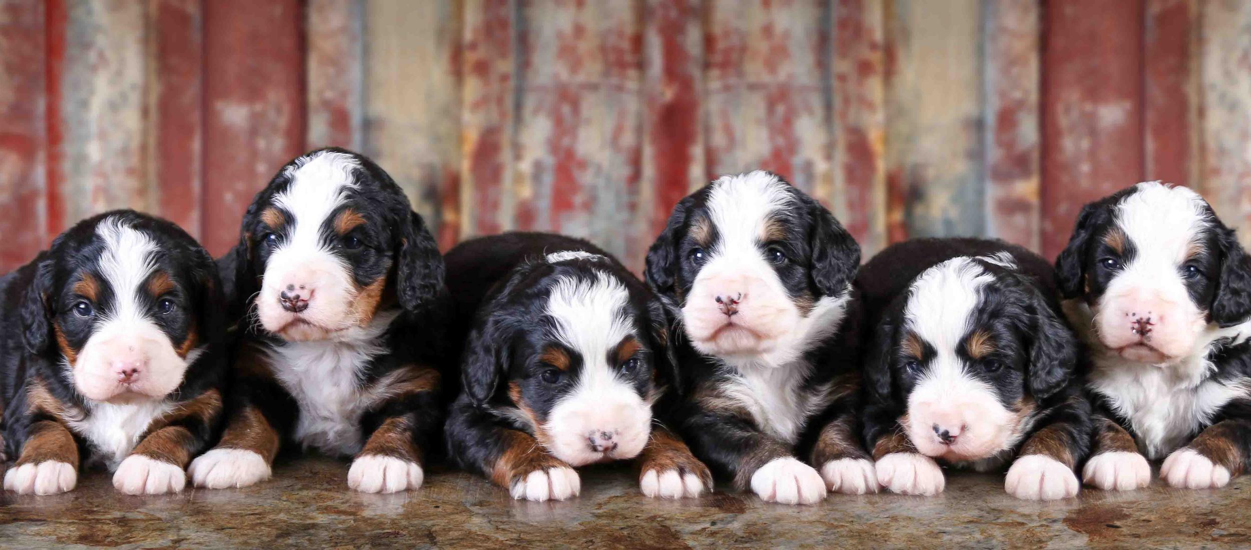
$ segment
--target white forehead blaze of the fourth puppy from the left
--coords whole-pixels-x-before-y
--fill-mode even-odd
[[[786,212],[793,200],[787,185],[763,170],[719,178],[708,194],[708,216],[721,239],[709,252],[761,256],[756,245],[766,224]]]

